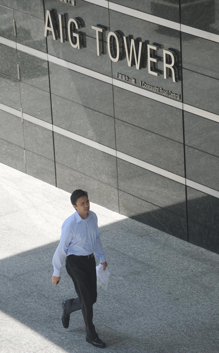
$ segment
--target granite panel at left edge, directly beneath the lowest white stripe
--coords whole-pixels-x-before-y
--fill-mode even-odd
[[[0,138],[24,148],[21,118],[0,110]]]

